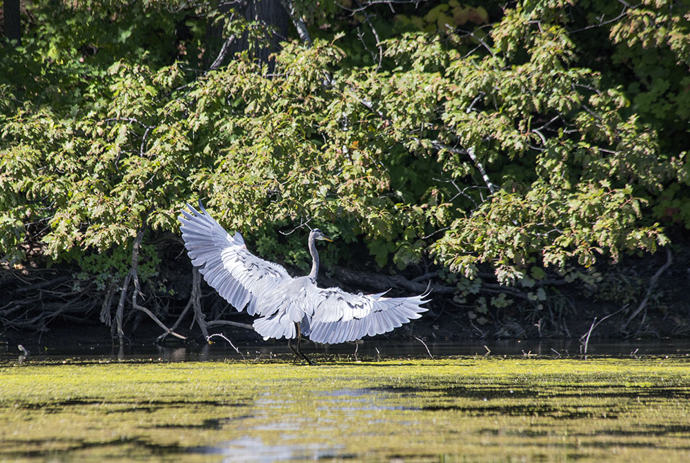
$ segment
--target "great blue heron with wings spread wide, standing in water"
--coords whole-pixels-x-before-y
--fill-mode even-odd
[[[421,317],[421,307],[430,299],[428,291],[412,297],[383,297],[385,293],[363,295],[346,293],[340,288],[319,288],[319,253],[316,241],[333,241],[315,228],[309,233],[311,272],[306,277],[290,277],[285,268],[256,257],[247,250],[242,235],[230,235],[215,221],[199,201],[201,212],[187,204],[181,210],[182,238],[192,264],[209,286],[232,304],[237,311],[246,308],[249,315],[260,315],[254,329],[268,339],[297,337],[297,351],[302,335],[314,342],[337,344],[364,336],[393,331],[411,319]],[[386,291],[387,293],[387,291]]]

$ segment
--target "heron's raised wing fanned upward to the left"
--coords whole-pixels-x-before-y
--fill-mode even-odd
[[[256,257],[239,233],[230,235],[199,201],[201,212],[187,204],[181,210],[182,239],[192,264],[199,266],[206,283],[237,311],[247,306],[250,315],[272,311],[266,300],[279,297],[282,282],[291,279],[282,266]]]

